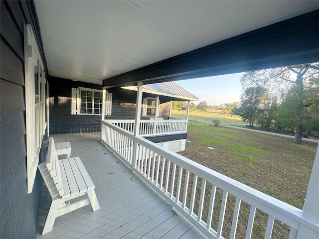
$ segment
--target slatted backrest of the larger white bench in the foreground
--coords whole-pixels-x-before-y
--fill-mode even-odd
[[[56,189],[59,191],[60,196],[64,195],[63,185],[62,185],[62,178],[61,178],[61,171],[60,171],[60,164],[58,155],[55,150],[54,140],[52,137],[49,137],[49,147],[48,153],[46,156],[46,167],[50,172],[50,175],[54,181]]]

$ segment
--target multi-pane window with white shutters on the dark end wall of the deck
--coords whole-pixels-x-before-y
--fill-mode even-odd
[[[72,115],[102,115],[103,92],[87,88],[72,88]],[[112,111],[112,93],[106,94],[106,115]]]

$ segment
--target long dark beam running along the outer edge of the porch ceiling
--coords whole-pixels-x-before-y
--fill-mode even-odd
[[[193,79],[319,62],[319,10],[103,80],[104,87]],[[165,50],[165,49],[163,49]]]

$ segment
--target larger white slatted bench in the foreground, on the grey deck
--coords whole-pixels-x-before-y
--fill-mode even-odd
[[[52,230],[55,218],[91,204],[93,211],[100,209],[94,184],[79,157],[58,160],[54,140],[49,138],[46,162],[39,171],[52,197],[42,235]],[[87,195],[88,197],[80,196]],[[71,200],[71,203],[70,201]]]

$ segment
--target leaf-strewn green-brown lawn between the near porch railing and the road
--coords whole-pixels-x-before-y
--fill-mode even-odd
[[[291,138],[249,132],[227,127],[190,125],[187,128],[185,151],[179,154],[217,172],[242,182],[302,209],[317,143],[292,143]],[[213,147],[214,149],[207,149]],[[219,212],[222,190],[217,190],[216,208]],[[234,205],[229,196],[227,205]],[[208,205],[206,205],[208,210]],[[229,237],[233,209],[227,207],[223,236]],[[205,217],[206,215],[204,215]],[[244,238],[249,216],[249,206],[242,203],[236,238]],[[218,213],[213,215],[213,228],[217,229]],[[241,223],[242,222],[242,223]],[[264,237],[267,216],[258,211],[252,238]],[[272,238],[288,238],[289,227],[275,221]]]

